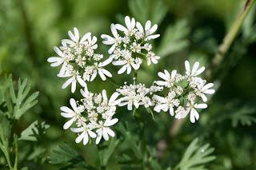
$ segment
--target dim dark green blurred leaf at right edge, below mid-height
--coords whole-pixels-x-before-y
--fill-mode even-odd
[[[232,126],[237,127],[239,123],[250,126],[253,123],[256,123],[256,117],[254,116],[255,112],[256,109],[250,108],[249,106],[244,106],[241,109],[237,109],[234,113],[230,114]]]

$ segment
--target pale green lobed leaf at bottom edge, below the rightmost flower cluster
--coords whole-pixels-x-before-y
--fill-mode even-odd
[[[182,160],[175,169],[206,169],[205,164],[216,158],[211,156],[213,152],[214,148],[210,148],[210,144],[199,145],[198,138],[196,138],[186,148]]]

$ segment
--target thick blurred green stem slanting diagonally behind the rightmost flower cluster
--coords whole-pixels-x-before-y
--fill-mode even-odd
[[[212,72],[216,69],[222,60],[228,49],[230,49],[230,45],[234,42],[234,38],[238,35],[238,32],[242,26],[242,22],[246,18],[246,15],[250,11],[251,7],[254,5],[255,0],[246,0],[245,5],[242,8],[242,11],[238,14],[238,17],[230,27],[229,32],[226,34],[225,38],[221,45],[219,45],[218,52],[215,54],[210,69],[206,72],[206,77],[209,79],[212,76]],[[175,120],[173,125],[170,127],[170,136],[174,137],[177,135],[179,129],[182,127],[184,120]]]

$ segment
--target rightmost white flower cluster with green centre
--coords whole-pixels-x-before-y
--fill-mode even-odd
[[[168,93],[165,97],[154,95],[154,111],[159,113],[161,110],[169,110],[170,115],[175,115],[177,119],[185,118],[190,113],[190,121],[194,123],[199,119],[197,109],[207,108],[207,105],[200,101],[206,102],[206,94],[214,93],[214,89],[210,89],[214,84],[206,84],[206,80],[198,77],[205,70],[205,67],[199,68],[198,62],[190,69],[189,61],[185,61],[185,67],[185,75],[177,73],[177,70],[169,73],[166,69],[163,73],[158,73],[163,81],[156,81],[156,84],[168,89]]]

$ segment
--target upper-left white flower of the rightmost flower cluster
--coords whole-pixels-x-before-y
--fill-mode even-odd
[[[164,73],[158,72],[158,76],[161,77],[164,81],[156,81],[156,84],[170,88],[174,86],[176,74],[177,70],[175,69],[171,72],[171,75],[166,69],[164,70]]]

